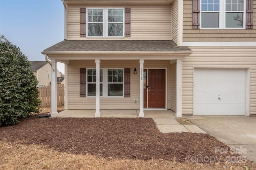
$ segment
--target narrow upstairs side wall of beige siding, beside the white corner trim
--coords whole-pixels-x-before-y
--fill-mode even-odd
[[[178,0],[172,4],[172,41],[178,43]]]

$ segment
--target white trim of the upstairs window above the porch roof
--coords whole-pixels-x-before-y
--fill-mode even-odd
[[[102,36],[88,36],[88,9],[102,9],[103,10],[103,33]],[[113,37],[113,36],[108,36],[108,9],[122,9],[123,10],[123,36],[120,37]],[[124,37],[125,34],[125,16],[124,16],[125,12],[124,12],[124,8],[117,8],[117,7],[108,7],[108,8],[97,8],[97,7],[90,7],[90,8],[86,8],[86,37],[88,38],[122,38]]]

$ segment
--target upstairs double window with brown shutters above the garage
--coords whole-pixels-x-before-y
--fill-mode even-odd
[[[193,29],[252,29],[253,0],[193,0]]]

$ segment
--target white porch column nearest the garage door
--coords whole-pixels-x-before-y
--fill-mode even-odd
[[[182,116],[182,67],[181,60],[176,61],[176,117]]]

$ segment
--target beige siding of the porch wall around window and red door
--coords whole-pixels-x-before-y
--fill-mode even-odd
[[[166,61],[145,61],[144,67],[168,68],[168,84],[171,83],[170,64]],[[130,98],[100,98],[100,109],[139,109],[140,74],[134,74],[133,68],[140,68],[139,61],[105,61],[101,68],[131,68]],[[80,68],[95,68],[94,60],[73,60],[68,64],[68,109],[95,109],[95,98],[80,98]],[[171,107],[171,88],[168,87],[168,109]],[[138,103],[133,103],[138,99]]]

